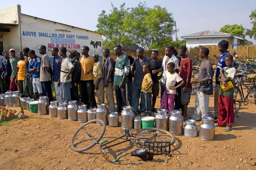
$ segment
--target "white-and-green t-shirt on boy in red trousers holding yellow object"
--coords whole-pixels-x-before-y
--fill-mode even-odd
[[[228,68],[228,67],[224,67],[224,71],[223,71],[224,76],[226,77],[230,77],[229,81],[232,82],[233,86],[235,87],[235,74],[236,74],[236,69],[234,67]],[[228,82],[229,82],[228,81]],[[220,82],[220,85],[222,85],[223,83]],[[234,88],[230,88],[226,91],[223,91],[222,88],[220,87],[219,89],[219,94],[222,96],[226,96],[226,97],[230,97],[230,98],[234,98]]]

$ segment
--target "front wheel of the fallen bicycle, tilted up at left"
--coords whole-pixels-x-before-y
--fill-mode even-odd
[[[103,126],[95,122],[101,122]],[[92,148],[96,142],[87,133],[90,133],[99,142],[106,130],[105,123],[100,119],[94,119],[84,123],[74,133],[71,139],[71,148],[76,152],[82,152]]]

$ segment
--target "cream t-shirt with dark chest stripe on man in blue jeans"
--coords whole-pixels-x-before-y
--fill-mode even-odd
[[[71,74],[70,79],[68,80],[66,77],[68,75],[69,70],[74,67],[74,65],[71,63],[70,58],[67,57],[65,59],[62,59],[61,62],[61,68],[60,68],[60,82],[70,82],[71,81]]]

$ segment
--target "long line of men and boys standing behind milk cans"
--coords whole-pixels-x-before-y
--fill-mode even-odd
[[[215,126],[224,126],[227,123],[225,131],[233,130],[236,71],[236,63],[227,51],[228,47],[229,43],[226,40],[218,44],[221,57],[217,64],[214,93],[214,115],[218,118]],[[181,109],[182,116],[186,120],[192,84],[197,84],[196,110],[190,118],[200,120],[209,112],[209,95],[213,94],[214,70],[208,58],[209,49],[200,48],[199,56],[202,59],[200,71],[198,78],[191,80],[192,60],[186,55],[186,50],[186,46],[180,46],[176,50],[169,45],[165,48],[165,56],[161,60],[157,50],[153,50],[151,58],[148,59],[143,55],[144,49],[138,48],[137,57],[134,59],[125,54],[123,47],[117,45],[113,48],[116,60],[110,56],[108,48],[103,49],[104,65],[102,65],[99,54],[92,56],[88,54],[88,46],[82,47],[81,57],[77,50],[70,50],[67,56],[65,47],[59,49],[54,47],[51,49],[52,68],[44,45],[39,47],[41,57],[27,47],[16,56],[15,49],[11,48],[9,52],[3,51],[3,56],[0,56],[1,81],[4,82],[1,83],[0,88],[2,93],[7,90],[19,90],[21,93],[26,93],[29,98],[39,99],[39,96],[47,96],[49,101],[52,101],[51,84],[53,84],[55,97],[59,103],[77,100],[86,104],[88,108],[96,107],[94,97],[96,92],[99,103],[104,103],[104,95],[106,95],[109,112],[120,113],[122,107],[129,102],[129,105],[141,116],[156,112],[155,103],[160,91],[161,108],[168,109],[169,112]],[[177,57],[178,54],[180,57]],[[233,84],[233,88],[222,89],[220,87],[222,84],[226,88]],[[115,108],[113,87],[117,108]]]

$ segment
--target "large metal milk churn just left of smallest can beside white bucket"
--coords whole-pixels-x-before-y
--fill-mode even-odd
[[[130,107],[130,109],[127,109]],[[127,111],[125,111],[127,110]],[[129,110],[129,111],[128,111]],[[124,106],[121,112],[121,126],[123,129],[132,129],[134,123],[134,116],[132,114],[132,107],[131,106]]]

